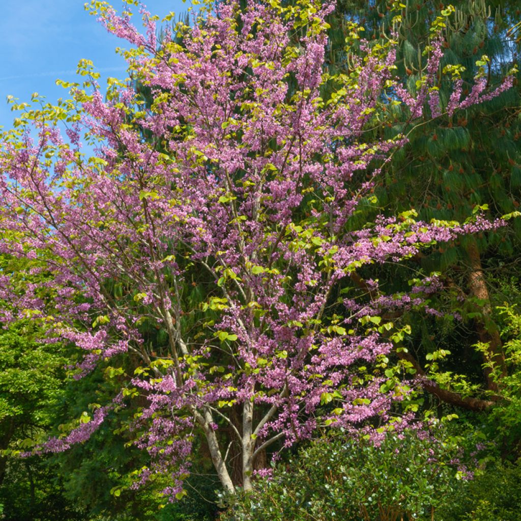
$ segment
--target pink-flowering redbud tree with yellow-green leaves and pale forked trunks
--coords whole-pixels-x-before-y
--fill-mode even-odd
[[[78,378],[111,363],[105,372],[121,388],[39,450],[88,439],[109,411],[137,400],[128,429],[151,464],[136,482],[170,472],[164,492],[179,498],[197,435],[233,492],[251,488],[254,460],[271,444],[290,446],[320,425],[378,436],[394,421],[415,369],[405,360],[390,369],[405,333],[382,310],[419,304],[437,282],[365,301],[342,289],[364,266],[500,223],[417,222],[412,211],[350,228],[406,139],[363,141],[381,104],[406,103],[414,121],[466,101],[456,91],[447,108],[436,95],[436,31],[414,95],[393,78],[394,42],[358,43],[354,24],[350,68],[328,73],[332,9],[231,0],[158,42],[144,8],[142,35],[128,14],[93,1],[91,12],[132,45],[122,51],[130,78],[109,79],[104,101],[83,60],[83,89],[65,84],[72,100],[15,104],[24,113],[1,143],[0,251],[30,259],[31,277],[13,284],[0,274],[2,321],[45,322],[47,341],[84,351]],[[151,345],[145,326],[165,342]],[[224,429],[240,447],[235,480]]]

